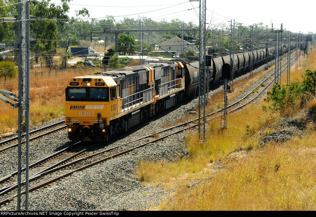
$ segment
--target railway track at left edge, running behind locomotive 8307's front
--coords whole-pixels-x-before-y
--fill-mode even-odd
[[[38,138],[45,136],[45,135],[48,135],[50,133],[55,133],[59,130],[65,129],[67,126],[65,126],[64,123],[65,123],[65,121],[60,121],[60,122],[51,124],[49,126],[42,127],[40,129],[31,131],[30,132],[30,141],[34,140],[34,139],[38,139]],[[10,149],[10,148],[14,148],[16,146],[18,146],[18,136],[1,141],[0,142],[0,154],[1,154],[1,152],[5,151],[7,149]]]

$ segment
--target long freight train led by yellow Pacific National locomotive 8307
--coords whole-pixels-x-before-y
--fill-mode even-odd
[[[283,52],[283,51],[282,51]],[[275,56],[274,48],[234,55],[234,73]],[[250,58],[252,55],[252,58]],[[210,85],[222,78],[230,56],[208,58]],[[198,62],[156,62],[75,77],[66,88],[65,124],[70,140],[99,141],[126,131],[145,118],[193,96]]]

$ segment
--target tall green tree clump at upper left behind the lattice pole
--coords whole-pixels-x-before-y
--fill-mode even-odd
[[[69,20],[66,15],[69,12],[69,3],[72,0],[61,0],[61,4],[55,5],[50,3],[51,0],[37,0],[30,1],[30,37],[39,39],[36,42],[30,43],[30,48],[33,53],[38,57],[43,57],[48,67],[52,66],[53,55],[56,54],[58,43],[54,40],[58,39],[58,35],[62,34],[66,28],[74,22],[73,19]],[[16,0],[0,0],[0,13],[11,17],[10,14],[15,16],[17,12]],[[88,10],[83,8],[77,11],[77,15],[88,15]],[[8,34],[9,33],[9,34]],[[5,42],[14,41],[15,36],[12,33],[17,33],[17,23],[1,23],[0,24],[0,39]],[[64,42],[64,46],[66,46]]]

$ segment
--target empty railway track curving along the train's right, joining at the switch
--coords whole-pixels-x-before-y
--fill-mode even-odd
[[[284,69],[283,69],[284,71]],[[270,76],[273,76],[274,73],[270,74]],[[261,84],[264,84],[264,82],[267,82],[269,79],[270,79],[270,76],[267,77],[263,82],[261,82]],[[232,104],[230,104],[228,106],[228,108],[231,108],[230,112],[234,112],[240,108],[243,108],[244,106],[246,106],[247,104],[251,103],[255,98],[257,98],[260,94],[263,93],[264,90],[266,90],[266,88],[274,81],[273,79],[270,79],[271,81],[268,83],[268,84],[265,84],[264,87],[263,85],[259,84],[257,87],[255,87],[253,90],[258,90],[258,88],[262,87],[262,90],[258,90],[258,94],[256,96],[254,96],[252,99],[249,99],[247,102],[244,102],[246,100],[246,98],[249,98],[250,96],[252,96],[253,94],[253,90],[250,91],[245,97],[243,97],[242,99],[238,100],[237,102],[234,102]],[[223,109],[219,109],[217,110],[216,112],[213,112],[211,114],[208,114],[206,115],[208,117],[208,120],[207,121],[210,121],[212,119],[215,118],[215,114],[221,112]],[[32,179],[34,180],[39,180],[40,177],[44,177],[46,175],[49,175],[49,174],[52,174],[58,170],[62,170],[64,168],[70,168],[70,166],[72,167],[76,167],[75,169],[67,172],[67,173],[64,173],[62,175],[58,175],[58,176],[54,176],[52,178],[48,178],[44,181],[38,181],[37,183],[34,183],[33,186],[31,186],[29,188],[29,192],[32,192],[36,189],[39,189],[41,187],[44,187],[52,182],[56,182],[57,180],[60,180],[64,177],[67,177],[67,176],[70,176],[71,174],[73,174],[74,172],[76,171],[81,171],[81,170],[85,170],[91,166],[94,166],[96,164],[100,164],[101,162],[104,162],[106,160],[109,160],[109,159],[112,159],[112,158],[115,158],[115,157],[118,157],[118,156],[121,156],[121,155],[124,155],[124,154],[127,154],[137,148],[140,148],[140,147],[143,147],[149,143],[154,143],[154,142],[157,142],[157,141],[161,141],[162,139],[165,139],[167,137],[169,137],[170,135],[173,135],[173,134],[176,134],[176,133],[180,133],[186,129],[189,129],[189,128],[192,128],[192,127],[197,127],[198,124],[194,124],[194,122],[196,122],[197,119],[194,119],[194,120],[190,120],[190,121],[187,121],[185,123],[182,123],[182,124],[179,124],[177,126],[173,126],[173,127],[169,127],[167,129],[164,129],[162,131],[159,131],[159,132],[156,132],[156,133],[151,133],[150,135],[146,135],[142,138],[139,138],[139,139],[135,139],[133,141],[129,141],[127,143],[124,143],[124,144],[121,144],[121,145],[118,145],[118,146],[115,146],[115,147],[111,147],[111,148],[108,148],[106,150],[103,150],[103,151],[100,151],[100,152],[96,152],[96,153],[93,153],[93,154],[90,154],[90,155],[85,155],[85,156],[78,156],[78,158],[74,158],[73,157],[73,160],[71,162],[63,162],[63,163],[60,163],[58,164],[57,166],[55,167],[51,167],[49,166],[49,164],[41,164],[42,167],[46,167],[46,169],[44,170],[41,170],[40,172],[36,173],[35,175],[33,175],[33,177],[31,177]],[[170,132],[170,131],[173,131],[173,132]],[[162,135],[164,134],[164,135]],[[156,136],[158,136],[159,138],[155,138]],[[140,144],[141,143],[141,144]],[[140,144],[140,145],[139,145]],[[68,157],[69,158],[69,157]],[[79,162],[82,162],[83,160],[87,160],[88,158],[90,158],[90,163],[84,165],[84,166],[80,166]],[[65,158],[67,159],[67,158]],[[76,165],[77,164],[77,165]],[[40,164],[38,164],[40,165]],[[38,168],[38,167],[37,167]],[[30,179],[31,179],[30,178]],[[2,179],[1,179],[2,180]],[[0,180],[0,182],[1,182]],[[7,188],[9,189],[9,188]],[[0,193],[1,194],[1,193]],[[7,202],[9,202],[10,200],[12,200],[13,198],[15,198],[17,195],[12,195],[10,196],[9,198],[3,200],[0,202],[0,205],[3,205]]]

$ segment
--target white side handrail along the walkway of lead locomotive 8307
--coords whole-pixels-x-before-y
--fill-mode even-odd
[[[154,93],[154,87],[151,87],[146,90],[142,90],[140,92],[134,93],[132,95],[125,96],[124,98],[121,99],[122,101],[121,110],[128,111],[129,109],[134,108],[137,105],[141,105],[145,102],[152,100],[154,97],[153,93]],[[144,99],[144,94],[145,94],[145,99]]]

